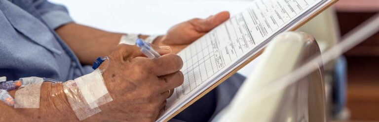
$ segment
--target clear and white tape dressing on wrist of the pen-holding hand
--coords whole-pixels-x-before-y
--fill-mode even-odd
[[[98,106],[113,100],[99,69],[65,82],[63,89],[80,121],[101,112]]]

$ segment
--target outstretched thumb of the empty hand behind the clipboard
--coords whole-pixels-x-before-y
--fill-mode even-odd
[[[194,25],[196,31],[198,32],[208,32],[215,28],[216,26],[224,23],[229,19],[230,14],[227,11],[220,12],[216,15],[210,16],[207,19],[192,19],[189,21]]]

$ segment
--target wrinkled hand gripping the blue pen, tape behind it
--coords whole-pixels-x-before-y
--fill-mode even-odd
[[[183,83],[183,61],[170,50],[152,47],[162,56],[149,59],[138,47],[125,44],[113,51],[103,77],[114,100],[88,121],[153,122],[159,117],[173,89]]]

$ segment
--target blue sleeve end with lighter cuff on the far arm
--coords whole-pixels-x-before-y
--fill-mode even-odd
[[[53,4],[47,0],[33,0],[33,5],[50,28],[56,29],[73,22],[68,10],[62,5]]]

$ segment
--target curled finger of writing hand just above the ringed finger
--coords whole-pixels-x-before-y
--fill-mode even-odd
[[[155,85],[160,88],[160,93],[167,92],[168,90],[175,89],[176,87],[182,85],[184,82],[184,75],[182,72],[178,71],[176,73],[167,74],[159,77],[159,82]],[[172,93],[174,91],[171,91]],[[171,94],[171,93],[170,93]],[[169,96],[167,96],[168,98]]]

